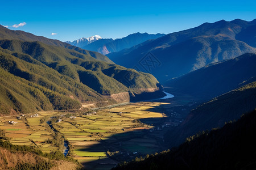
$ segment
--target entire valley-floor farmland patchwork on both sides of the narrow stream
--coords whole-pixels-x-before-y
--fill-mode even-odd
[[[36,117],[29,114],[20,120],[15,116],[1,117],[0,129],[5,130],[6,137],[13,144],[36,146],[44,152],[51,152],[60,149],[48,142],[56,135],[47,125],[47,121],[51,121],[52,128],[68,141],[70,156],[85,167],[88,164],[89,169],[97,169],[101,164],[113,167],[120,160],[160,151],[160,132],[150,129],[166,118],[166,114],[153,108],[166,104],[169,103],[130,103],[86,113],[38,112]],[[61,121],[56,122],[57,119]],[[142,120],[147,120],[147,123]],[[16,123],[10,124],[9,121]]]

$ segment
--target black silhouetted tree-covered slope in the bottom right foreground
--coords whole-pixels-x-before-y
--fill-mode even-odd
[[[256,110],[179,147],[113,169],[250,169],[256,165]]]

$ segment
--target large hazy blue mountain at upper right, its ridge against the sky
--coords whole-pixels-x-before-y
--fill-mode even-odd
[[[255,25],[256,19],[204,23],[107,56],[119,65],[151,73],[164,82],[212,62],[255,53]]]

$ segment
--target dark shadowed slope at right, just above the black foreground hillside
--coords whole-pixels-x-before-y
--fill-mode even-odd
[[[164,139],[170,146],[177,146],[199,131],[222,127],[225,122],[237,120],[255,108],[256,82],[252,82],[192,109],[184,122],[168,132]]]

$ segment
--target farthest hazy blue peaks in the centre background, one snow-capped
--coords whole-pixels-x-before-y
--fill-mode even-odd
[[[164,36],[162,33],[148,34],[148,33],[133,33],[122,39],[102,39],[100,36],[93,36],[90,38],[81,38],[76,41],[67,41],[71,45],[79,46],[82,49],[92,50],[101,54],[109,54],[118,52],[120,50],[131,48],[134,45],[141,44],[144,41],[157,39]]]

